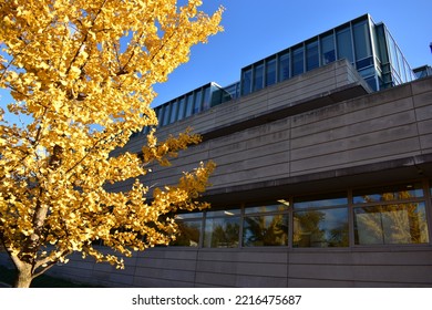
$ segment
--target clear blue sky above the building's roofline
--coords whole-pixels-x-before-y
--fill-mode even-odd
[[[203,0],[218,6],[225,31],[194,46],[188,63],[156,85],[153,106],[208,82],[226,86],[240,69],[364,13],[387,24],[412,68],[432,64],[432,0]]]

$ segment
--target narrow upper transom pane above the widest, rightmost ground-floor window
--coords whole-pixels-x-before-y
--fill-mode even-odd
[[[367,188],[353,192],[354,204],[392,202],[423,197],[421,183]]]

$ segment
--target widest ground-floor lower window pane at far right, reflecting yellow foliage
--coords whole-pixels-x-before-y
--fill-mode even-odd
[[[354,208],[356,245],[429,242],[424,203]]]

